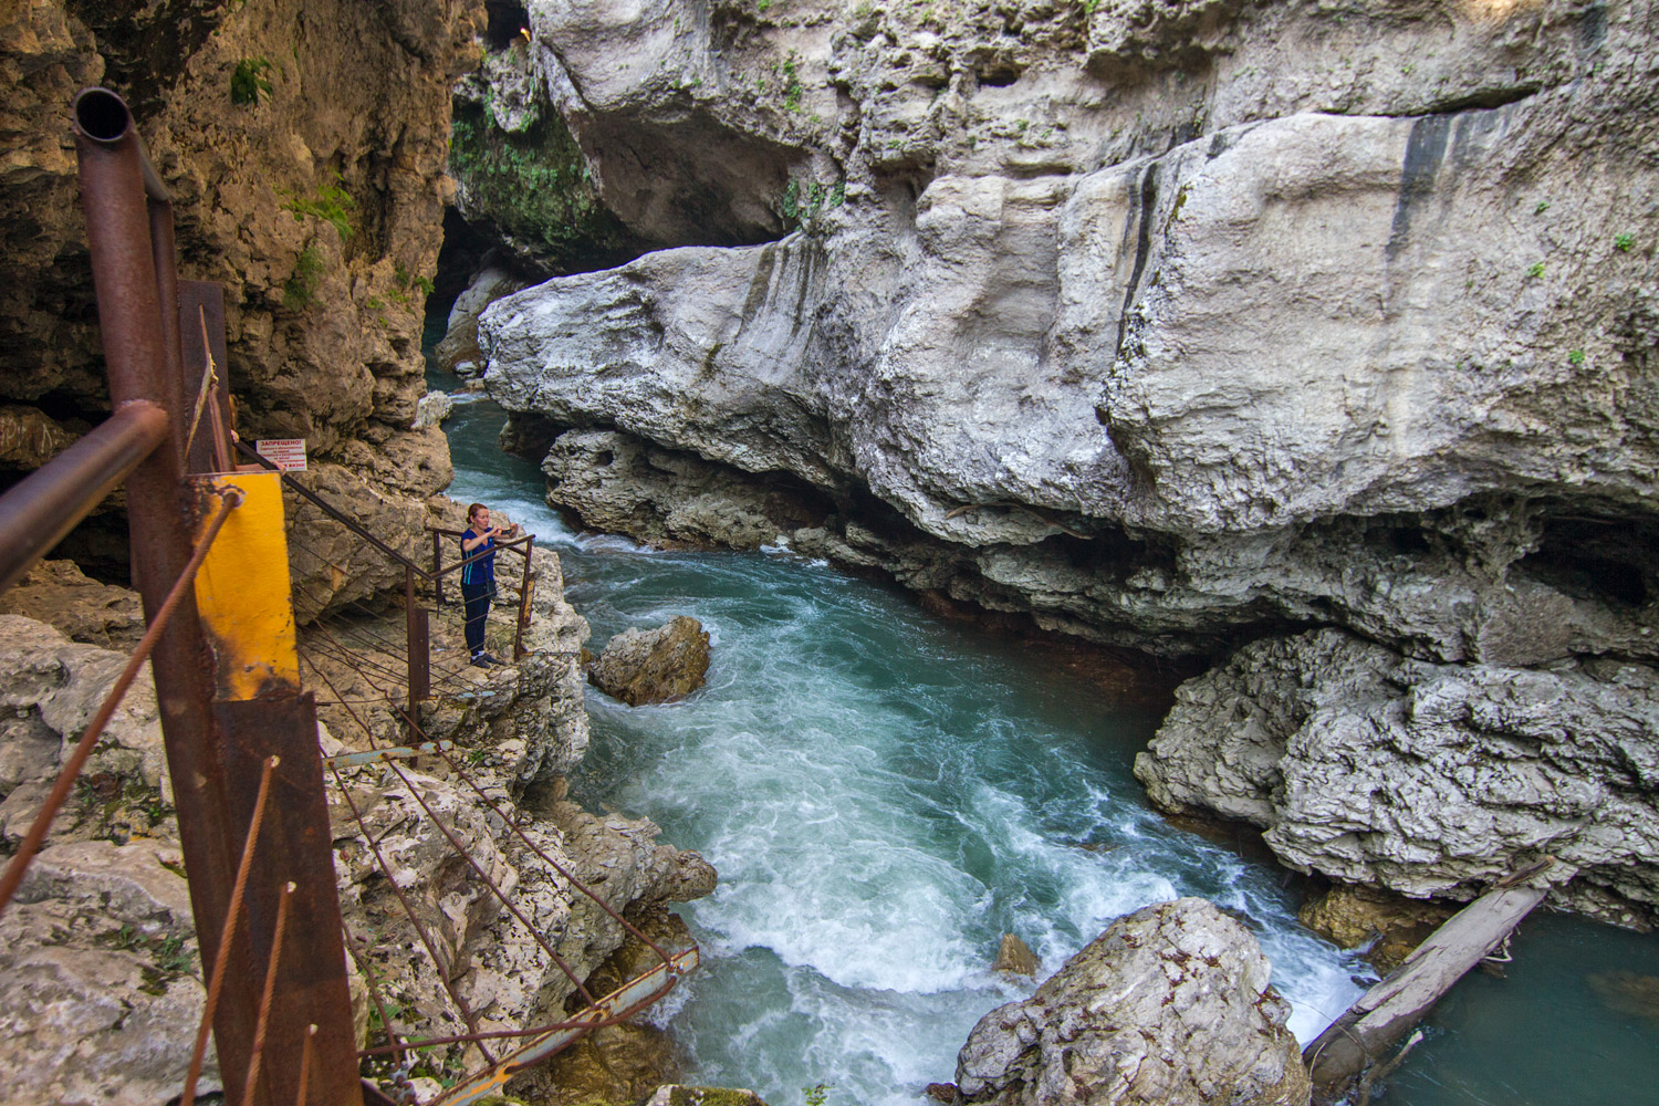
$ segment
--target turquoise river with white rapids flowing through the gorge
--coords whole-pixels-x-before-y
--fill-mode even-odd
[[[785,549],[657,552],[574,532],[536,466],[496,448],[499,408],[458,398],[448,494],[561,552],[596,650],[677,614],[713,642],[708,685],[687,701],[627,708],[591,690],[594,741],[572,783],[720,871],[713,895],[680,907],[703,968],[655,1013],[685,1081],[773,1106],[820,1083],[830,1106],[916,1106],[954,1078],[972,1025],[1029,993],[989,970],[1004,932],[1047,975],[1112,919],[1175,895],[1249,924],[1304,1041],[1374,978],[1297,925],[1282,872],[1146,806],[1130,764],[1155,716]],[[1624,977],[1609,992],[1606,975],[1659,975],[1659,942],[1541,917],[1511,948],[1510,978],[1465,980],[1375,1101],[1659,1103],[1659,1021],[1609,998]]]

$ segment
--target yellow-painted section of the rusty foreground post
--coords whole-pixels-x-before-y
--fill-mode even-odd
[[[297,693],[300,658],[282,529],[282,474],[221,473],[191,483],[199,519],[212,516],[224,491],[242,492],[242,506],[226,519],[196,574],[196,609],[217,662],[219,701]]]

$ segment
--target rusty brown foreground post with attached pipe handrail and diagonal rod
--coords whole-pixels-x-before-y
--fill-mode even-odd
[[[335,953],[338,970],[330,968],[338,932],[315,925],[338,917],[327,836],[305,841],[280,824],[259,832],[272,789],[290,814],[320,809],[327,819],[320,768],[305,771],[307,761],[319,764],[314,708],[280,682],[260,698],[227,695],[222,650],[231,642],[209,642],[197,604],[226,534],[247,511],[241,488],[206,476],[229,456],[229,400],[214,366],[222,333],[216,347],[209,328],[209,315],[222,318],[222,293],[178,279],[171,197],[121,98],[83,90],[71,114],[113,415],[0,499],[0,585],[124,484],[133,584],[148,628],[0,877],[0,910],[148,660],[197,947],[204,963],[217,965],[182,1101],[194,1101],[211,1031],[232,1103],[360,1103],[343,952]],[[186,317],[194,327],[186,328]],[[196,395],[182,370],[186,348],[204,366]],[[197,434],[204,411],[209,429]],[[239,786],[251,771],[262,781],[257,799]],[[249,880],[255,849],[260,879]],[[295,965],[307,958],[302,978]],[[259,972],[262,988],[222,990],[226,965]],[[279,993],[302,998],[274,1002]]]

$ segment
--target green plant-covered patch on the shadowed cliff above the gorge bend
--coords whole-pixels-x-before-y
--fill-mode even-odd
[[[503,235],[554,269],[627,255],[629,234],[599,199],[576,139],[554,111],[506,131],[488,106],[456,104],[450,171]]]

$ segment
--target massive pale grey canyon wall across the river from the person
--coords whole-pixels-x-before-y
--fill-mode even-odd
[[[481,320],[552,501],[1100,642],[1279,642],[1314,685],[1342,675],[1314,627],[1475,698],[1601,658],[1634,675],[1561,677],[1599,706],[1541,695],[1540,725],[1652,733],[1654,3],[538,0],[526,25],[519,71],[665,247]],[[1253,803],[1291,817],[1282,786]],[[1561,837],[1481,842],[1486,872]],[[1642,871],[1611,914],[1659,904]]]

